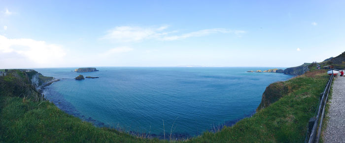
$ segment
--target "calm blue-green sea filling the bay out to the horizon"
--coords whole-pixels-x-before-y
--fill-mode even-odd
[[[266,86],[292,76],[248,73],[274,67],[39,68],[60,81],[45,97],[68,114],[131,133],[183,138],[200,135],[255,113]],[[74,78],[100,77],[76,81]]]

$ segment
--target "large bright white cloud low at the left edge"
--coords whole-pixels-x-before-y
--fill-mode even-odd
[[[60,62],[66,55],[65,50],[55,44],[47,44],[45,41],[33,39],[9,39],[0,35],[0,54],[17,55],[25,58],[27,62],[34,62],[38,65],[50,66],[52,63]],[[4,57],[0,57],[0,60]],[[8,57],[13,59],[13,57]],[[14,59],[15,60],[15,59]],[[20,64],[11,61],[13,64]]]

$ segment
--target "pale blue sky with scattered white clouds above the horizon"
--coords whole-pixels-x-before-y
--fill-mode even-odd
[[[0,0],[0,68],[292,67],[345,51],[344,0]]]

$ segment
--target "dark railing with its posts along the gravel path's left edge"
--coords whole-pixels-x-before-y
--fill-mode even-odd
[[[312,125],[312,128],[310,126],[309,130],[308,130],[308,132],[311,133],[310,138],[308,140],[308,143],[318,143],[320,140],[322,121],[323,121],[323,118],[325,116],[326,103],[327,103],[327,99],[328,99],[329,90],[331,89],[333,77],[334,77],[334,75],[332,74],[328,80],[328,83],[325,87],[325,90],[321,93],[322,96],[320,97],[321,100],[320,100],[320,103],[319,103],[319,106],[317,109],[316,117],[311,117],[311,119],[309,120],[309,125]],[[318,126],[317,126],[317,123],[319,123]],[[307,138],[308,138],[308,136],[307,136]],[[307,143],[307,140],[306,140],[306,143]]]

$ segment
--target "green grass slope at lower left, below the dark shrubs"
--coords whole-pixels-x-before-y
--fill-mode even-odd
[[[48,101],[0,97],[0,141],[4,142],[146,142],[116,130],[97,128],[66,114]],[[158,140],[154,140],[158,141]]]

